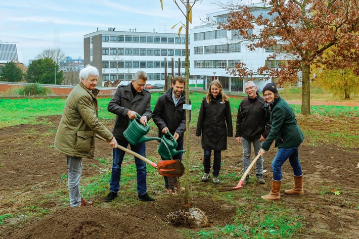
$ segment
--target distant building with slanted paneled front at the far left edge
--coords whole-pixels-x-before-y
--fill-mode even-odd
[[[0,71],[2,66],[11,61],[23,64],[19,43],[0,40]]]

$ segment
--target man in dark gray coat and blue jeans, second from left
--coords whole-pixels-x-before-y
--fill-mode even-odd
[[[133,75],[133,79],[128,85],[120,85],[113,99],[108,104],[108,111],[116,115],[115,125],[112,133],[115,136],[118,145],[127,148],[129,142],[123,136],[123,132],[128,127],[129,120],[137,118],[137,114],[141,115],[140,123],[146,123],[152,118],[151,111],[151,93],[144,89],[148,79],[147,73],[138,71]],[[136,152],[146,157],[145,142],[137,146],[130,145],[133,152]],[[117,192],[120,189],[121,178],[121,164],[125,152],[116,148],[113,149],[113,164],[110,181],[110,193],[105,198],[105,202],[112,202],[117,197]],[[134,157],[134,162],[137,168],[137,193],[138,199],[145,202],[153,202],[147,194],[147,171],[146,163],[137,157]]]

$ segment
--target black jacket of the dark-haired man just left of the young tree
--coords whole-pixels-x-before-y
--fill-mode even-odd
[[[175,106],[172,92],[173,88],[171,87],[158,98],[153,110],[153,122],[158,127],[158,137],[162,137],[162,129],[167,127],[172,135],[175,132],[178,133],[179,138],[177,142],[183,142],[184,132],[186,131],[186,110],[183,110],[183,105],[186,103],[186,94],[185,91],[182,93],[181,98]]]

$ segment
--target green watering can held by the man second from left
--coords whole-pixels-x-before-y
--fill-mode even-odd
[[[128,127],[123,132],[123,136],[131,145],[138,145],[141,142],[146,142],[150,140],[161,140],[159,137],[147,137],[146,134],[150,131],[150,126],[146,123],[146,126],[140,123],[141,115],[136,114],[137,118],[130,120],[128,122]]]

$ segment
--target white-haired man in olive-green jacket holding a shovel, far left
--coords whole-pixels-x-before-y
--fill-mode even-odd
[[[99,134],[113,147],[117,141],[98,118],[96,89],[99,71],[87,65],[80,71],[80,82],[69,94],[55,136],[54,147],[67,157],[70,206],[88,206],[80,194],[82,158],[94,158],[95,136]]]

